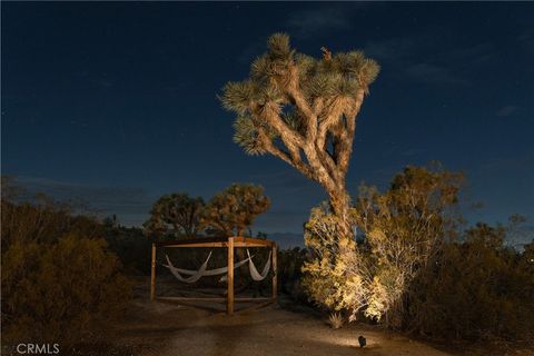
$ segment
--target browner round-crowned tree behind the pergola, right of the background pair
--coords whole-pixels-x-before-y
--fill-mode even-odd
[[[234,184],[209,200],[202,224],[215,235],[241,236],[269,206],[270,200],[264,196],[264,187]]]

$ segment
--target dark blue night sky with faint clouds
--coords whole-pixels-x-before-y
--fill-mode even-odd
[[[308,55],[382,65],[348,186],[439,160],[469,179],[474,221],[534,219],[534,3],[2,2],[2,174],[139,224],[160,195],[234,181],[271,197],[264,231],[299,231],[322,189],[246,156],[216,95],[276,31]]]

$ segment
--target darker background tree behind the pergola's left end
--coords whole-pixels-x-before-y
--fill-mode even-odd
[[[197,236],[204,214],[202,198],[187,194],[169,194],[159,198],[150,211],[150,218],[142,225],[147,234]]]

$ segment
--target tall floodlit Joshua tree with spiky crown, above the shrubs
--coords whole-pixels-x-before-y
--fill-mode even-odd
[[[316,59],[291,49],[287,34],[275,33],[249,78],[228,82],[221,97],[237,113],[234,140],[249,155],[274,155],[319,182],[345,236],[350,234],[345,176],[356,116],[378,71],[360,51],[332,55],[323,48]]]

